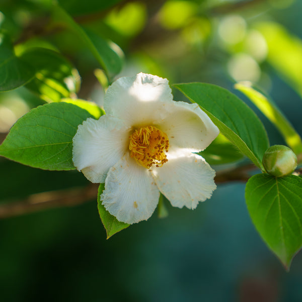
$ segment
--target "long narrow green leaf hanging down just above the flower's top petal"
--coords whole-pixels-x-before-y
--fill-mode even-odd
[[[104,40],[91,30],[82,28],[59,6],[54,6],[53,18],[54,21],[63,23],[67,29],[78,35],[109,77],[112,78],[121,71],[124,55],[118,45]]]

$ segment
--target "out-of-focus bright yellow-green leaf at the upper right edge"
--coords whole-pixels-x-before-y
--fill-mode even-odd
[[[302,96],[302,40],[278,23],[263,22],[256,28],[266,40],[268,62]]]

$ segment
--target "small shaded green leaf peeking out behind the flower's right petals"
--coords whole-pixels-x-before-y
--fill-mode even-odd
[[[198,153],[209,165],[223,165],[240,161],[243,154],[221,133],[204,150]]]

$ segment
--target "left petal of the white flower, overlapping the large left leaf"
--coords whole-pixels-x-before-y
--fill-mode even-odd
[[[91,182],[103,183],[109,168],[128,148],[129,128],[121,120],[103,115],[88,118],[73,137],[72,161]]]

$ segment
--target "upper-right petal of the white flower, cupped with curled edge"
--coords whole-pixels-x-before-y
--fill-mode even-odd
[[[180,147],[199,152],[218,135],[218,128],[197,104],[173,102],[173,106],[167,107],[169,116],[154,123],[168,135],[170,149]]]

